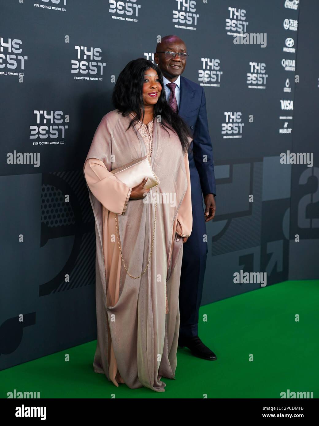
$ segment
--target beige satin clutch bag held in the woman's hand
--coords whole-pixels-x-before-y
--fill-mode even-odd
[[[149,155],[111,170],[111,173],[130,188],[136,187],[145,177],[148,179],[144,189],[149,189],[159,184],[159,180],[152,170],[151,157]]]

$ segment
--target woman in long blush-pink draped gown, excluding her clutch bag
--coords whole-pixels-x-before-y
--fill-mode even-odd
[[[159,392],[162,377],[175,377],[183,242],[192,229],[191,137],[162,81],[152,62],[128,63],[114,88],[116,109],[102,118],[84,163],[96,224],[93,368],[115,386]],[[147,154],[157,187],[144,190],[143,180],[131,188],[110,173]]]

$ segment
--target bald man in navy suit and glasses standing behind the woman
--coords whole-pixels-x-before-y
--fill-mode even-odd
[[[168,104],[186,121],[193,136],[188,152],[193,229],[183,245],[178,344],[188,347],[197,357],[216,360],[214,352],[198,337],[198,314],[208,251],[206,222],[214,219],[216,211],[214,161],[208,132],[205,92],[199,84],[180,76],[185,69],[187,56],[185,43],[175,35],[162,37],[154,53],[154,60],[164,75]]]

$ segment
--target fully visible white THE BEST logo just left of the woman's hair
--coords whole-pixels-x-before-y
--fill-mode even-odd
[[[74,74],[84,74],[74,76],[75,80],[100,80],[103,78],[103,67],[106,65],[102,62],[102,49],[99,47],[74,46],[77,52],[77,59],[71,60],[72,70]],[[91,77],[89,75],[95,75]]]

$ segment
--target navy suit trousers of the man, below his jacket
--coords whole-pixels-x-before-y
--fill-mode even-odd
[[[198,312],[203,293],[206,268],[207,242],[203,203],[191,206],[193,229],[191,236],[183,243],[182,271],[180,276],[180,336],[192,337],[198,334]]]

